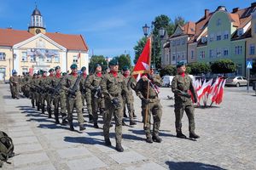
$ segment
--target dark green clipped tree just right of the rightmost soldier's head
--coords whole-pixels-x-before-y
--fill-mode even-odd
[[[190,73],[193,75],[207,74],[207,72],[211,71],[211,66],[207,63],[191,63],[188,67],[191,69]]]

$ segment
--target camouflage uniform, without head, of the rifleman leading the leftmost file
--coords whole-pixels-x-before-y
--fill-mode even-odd
[[[75,82],[77,81],[79,77],[74,77],[72,74],[68,75],[66,78],[66,87],[67,91],[69,91],[68,99],[67,99],[67,120],[70,123],[70,129],[73,130],[73,109],[75,107],[77,113],[78,113],[78,121],[79,121],[79,127],[80,130],[84,130],[84,116],[82,113],[82,97],[81,92],[79,90],[79,87],[77,87],[77,91],[72,92],[72,88],[75,85]],[[79,86],[79,83],[78,83]],[[74,93],[74,95],[71,95],[71,93]]]

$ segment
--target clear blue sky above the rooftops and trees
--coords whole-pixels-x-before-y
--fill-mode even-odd
[[[178,15],[185,20],[199,20],[204,9],[224,5],[246,8],[256,0],[0,0],[0,27],[26,30],[35,8],[44,17],[49,32],[82,34],[94,54],[113,57],[131,54],[143,37],[142,26],[155,16],[166,14],[172,20]]]

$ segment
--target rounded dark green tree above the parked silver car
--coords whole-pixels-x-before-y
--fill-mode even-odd
[[[232,73],[235,72],[237,67],[231,59],[219,59],[211,65],[212,73]]]

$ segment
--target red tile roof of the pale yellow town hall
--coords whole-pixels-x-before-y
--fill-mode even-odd
[[[33,36],[34,35],[28,31],[0,28],[0,46],[12,47],[16,43],[23,42]],[[88,46],[82,35],[46,32],[45,36],[67,49],[88,51]]]

